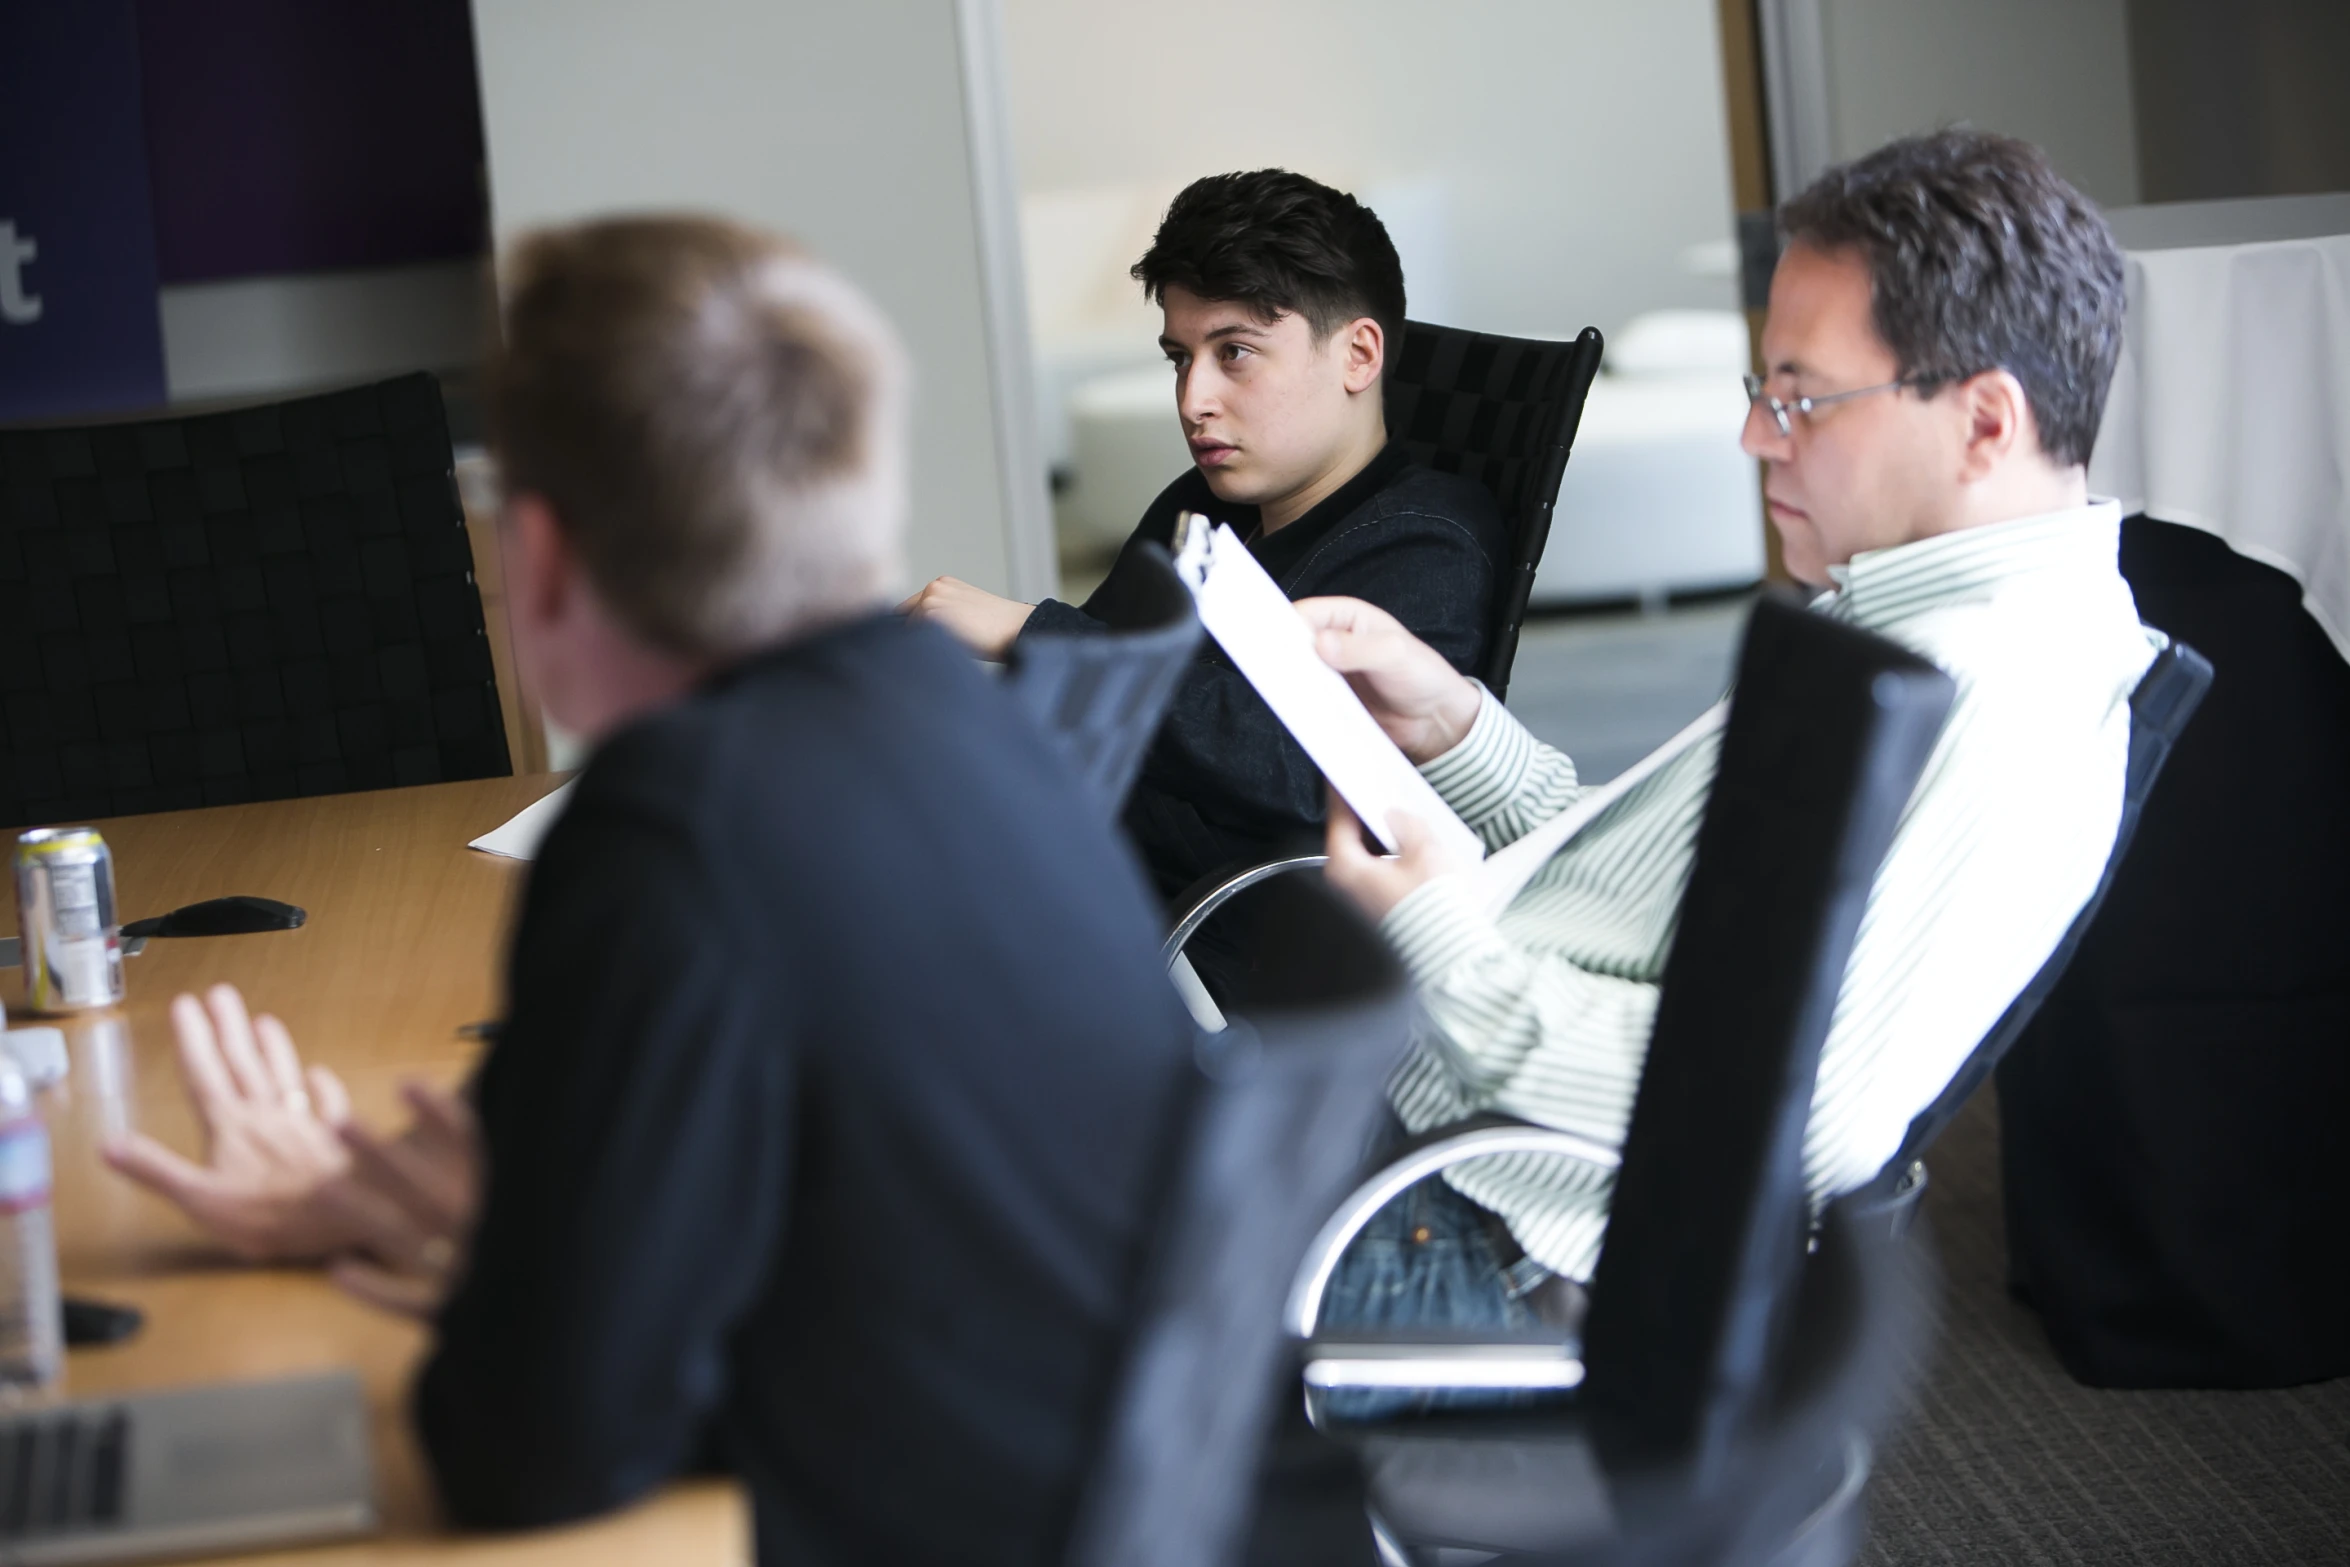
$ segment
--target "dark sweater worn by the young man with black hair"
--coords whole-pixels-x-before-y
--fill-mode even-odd
[[[1142,515],[1083,606],[1046,599],[1020,634],[1102,630],[1126,592],[1128,559],[1144,540],[1166,547],[1177,512],[1229,522],[1292,599],[1368,599],[1462,674],[1485,660],[1509,557],[1502,512],[1483,484],[1422,468],[1394,444],[1269,538],[1255,536],[1257,507],[1227,505],[1196,468],[1184,472]],[[1213,869],[1316,836],[1323,787],[1304,749],[1210,639],[1142,764],[1126,827],[1152,881],[1173,897]]]

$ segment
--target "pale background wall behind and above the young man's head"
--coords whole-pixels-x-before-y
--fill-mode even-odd
[[[1415,312],[1450,324],[1734,305],[1685,265],[1732,233],[1713,0],[1003,0],[1003,26],[1029,195],[1283,164],[1389,207]],[[1119,287],[1135,254],[1090,268]]]

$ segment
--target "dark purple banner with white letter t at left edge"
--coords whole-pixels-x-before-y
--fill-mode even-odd
[[[164,402],[132,0],[7,7],[0,423]]]

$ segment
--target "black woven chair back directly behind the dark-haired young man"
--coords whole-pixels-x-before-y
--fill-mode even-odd
[[[1572,343],[1537,343],[1405,322],[1386,369],[1386,437],[1417,463],[1476,479],[1502,505],[1509,559],[1478,670],[1499,698],[1509,695],[1518,625],[1603,350],[1596,327]]]

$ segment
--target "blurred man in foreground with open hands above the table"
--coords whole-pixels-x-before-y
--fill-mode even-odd
[[[1043,1560],[1189,1078],[1152,900],[994,681],[888,613],[905,371],[862,296],[717,221],[501,270],[515,644],[597,749],[472,1104],[371,1137],[221,987],[174,1008],[207,1163],[110,1158],[247,1257],[437,1306],[416,1421],[458,1522],[714,1447],[764,1562]]]

